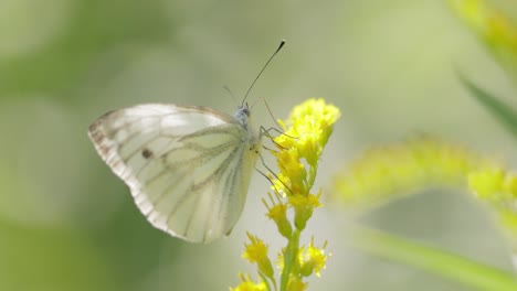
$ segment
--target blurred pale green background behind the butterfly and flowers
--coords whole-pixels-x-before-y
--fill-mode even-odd
[[[515,88],[445,1],[1,0],[0,290],[228,290],[254,273],[245,231],[283,244],[263,215],[265,179],[228,239],[190,245],[146,222],[86,130],[143,103],[233,112],[222,87],[241,98],[281,39],[250,101],[279,118],[309,97],[340,107],[320,185],[365,147],[421,133],[517,165],[515,141],[454,71],[508,103]],[[273,125],[260,100],[254,117]],[[310,290],[466,290],[347,248],[349,219],[325,207],[308,225],[334,254]],[[510,270],[502,235],[464,193],[428,191],[361,222]]]

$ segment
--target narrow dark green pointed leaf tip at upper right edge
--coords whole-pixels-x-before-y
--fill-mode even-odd
[[[463,74],[458,74],[460,80],[490,114],[493,114],[517,138],[517,112],[510,106],[500,101],[494,95],[477,87]]]

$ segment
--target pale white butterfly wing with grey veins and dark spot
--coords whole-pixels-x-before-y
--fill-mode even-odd
[[[258,146],[232,117],[203,107],[139,105],[106,114],[88,133],[152,226],[209,242],[239,219]]]

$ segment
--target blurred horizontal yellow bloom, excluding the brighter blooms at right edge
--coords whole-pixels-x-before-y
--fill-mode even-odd
[[[467,149],[429,137],[367,150],[335,179],[350,206],[370,206],[430,185],[465,187],[466,175],[495,163]]]

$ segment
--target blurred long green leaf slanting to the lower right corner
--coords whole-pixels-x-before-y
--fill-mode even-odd
[[[351,244],[370,255],[424,269],[475,290],[517,290],[517,278],[510,272],[379,230],[358,228]]]

